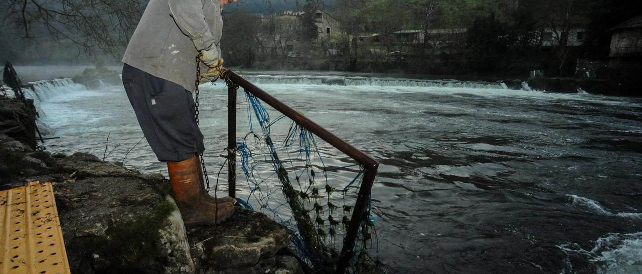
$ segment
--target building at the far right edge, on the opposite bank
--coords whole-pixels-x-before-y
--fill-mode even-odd
[[[642,56],[642,15],[615,26],[611,31],[611,57]]]

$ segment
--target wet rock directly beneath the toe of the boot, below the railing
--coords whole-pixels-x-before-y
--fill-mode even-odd
[[[259,268],[275,266],[272,261],[261,260],[274,257],[288,246],[291,231],[264,214],[237,208],[222,225],[189,230],[188,236],[192,257],[205,273],[256,273]]]

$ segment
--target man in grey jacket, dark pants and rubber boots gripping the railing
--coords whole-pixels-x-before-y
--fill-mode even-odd
[[[205,191],[198,154],[203,134],[195,120],[196,56],[206,65],[198,81],[223,69],[221,8],[238,0],[150,0],[123,56],[123,85],[143,134],[167,162],[171,194],[187,227],[220,223],[234,199]]]

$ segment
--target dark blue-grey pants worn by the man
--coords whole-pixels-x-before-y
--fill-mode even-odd
[[[183,161],[203,153],[194,99],[182,86],[125,64],[123,85],[143,134],[159,161]]]

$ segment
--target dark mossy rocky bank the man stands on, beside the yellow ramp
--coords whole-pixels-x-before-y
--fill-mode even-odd
[[[52,182],[72,273],[302,273],[297,259],[276,255],[291,232],[267,216],[238,209],[187,234],[159,173],[84,153],[54,159],[7,119],[0,115],[0,189]]]

